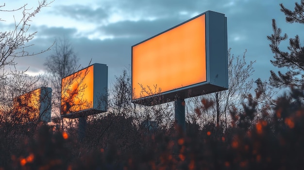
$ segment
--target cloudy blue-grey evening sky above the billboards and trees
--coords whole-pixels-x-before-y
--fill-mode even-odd
[[[280,3],[293,9],[300,0],[54,0],[33,19],[29,32],[38,31],[32,40],[31,50],[48,48],[56,38],[66,37],[71,42],[82,66],[104,63],[109,68],[109,85],[123,69],[131,65],[131,46],[177,24],[211,10],[225,14],[228,25],[228,48],[232,54],[242,56],[247,49],[246,60],[256,61],[253,79],[268,80],[270,70],[277,70],[270,63],[267,35],[272,33],[271,19],[277,20],[289,37],[302,37],[301,24],[287,24],[280,11]],[[2,10],[16,9],[24,4],[35,8],[38,0],[4,0]],[[0,4],[4,3],[3,0]],[[20,12],[3,13],[0,31],[11,30]],[[282,46],[282,48],[286,48]],[[18,69],[28,74],[44,72],[43,63],[51,55],[48,51],[27,59],[18,59]]]

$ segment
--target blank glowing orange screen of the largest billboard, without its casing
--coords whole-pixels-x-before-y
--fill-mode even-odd
[[[132,99],[206,81],[205,15],[132,47]],[[156,92],[154,86],[157,85]]]

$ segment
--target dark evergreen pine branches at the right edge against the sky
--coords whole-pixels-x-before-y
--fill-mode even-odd
[[[295,3],[295,10],[291,11],[284,7],[281,3],[281,11],[286,15],[286,21],[289,23],[297,22],[304,24],[304,0],[301,3]],[[273,34],[267,36],[270,40],[270,49],[274,54],[275,60],[270,61],[278,68],[287,68],[286,73],[278,71],[270,71],[270,84],[274,87],[285,88],[294,86],[297,88],[304,88],[304,46],[300,43],[298,35],[295,38],[289,39],[288,52],[280,49],[282,41],[287,40],[287,34],[282,34],[282,30],[277,27],[275,19],[272,19]]]

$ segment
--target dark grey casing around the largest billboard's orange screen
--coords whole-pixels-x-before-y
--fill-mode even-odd
[[[206,11],[175,27],[163,31],[151,38],[132,46],[132,78],[133,78],[133,47],[157,37],[167,31],[179,27],[199,16],[205,15],[205,52],[206,52],[206,81],[161,92],[141,98],[132,98],[133,103],[152,106],[207,93],[214,93],[228,89],[228,47],[227,47],[227,17],[224,14]],[[182,78],[182,77],[181,77]],[[132,95],[134,94],[132,81]]]

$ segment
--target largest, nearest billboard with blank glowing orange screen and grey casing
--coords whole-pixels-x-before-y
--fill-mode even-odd
[[[227,18],[212,11],[132,46],[132,102],[156,105],[228,89],[227,51]]]

